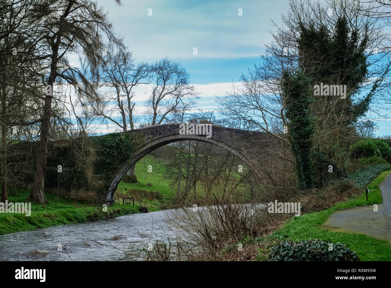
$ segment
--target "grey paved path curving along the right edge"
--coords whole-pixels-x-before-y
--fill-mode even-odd
[[[379,188],[382,190],[383,204],[378,204],[378,212],[373,211],[373,205],[337,211],[321,228],[363,233],[391,243],[391,173]]]

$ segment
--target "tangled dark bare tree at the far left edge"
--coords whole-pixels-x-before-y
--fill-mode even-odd
[[[24,137],[26,130],[33,130],[40,117],[36,113],[39,95],[37,91],[43,65],[39,49],[41,12],[31,0],[0,1],[0,125],[1,125],[1,182],[2,200],[7,199],[7,181],[10,165],[7,157],[14,151],[9,145]],[[28,126],[28,127],[27,127]]]

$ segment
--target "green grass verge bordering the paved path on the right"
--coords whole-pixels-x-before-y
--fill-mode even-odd
[[[319,227],[335,211],[382,203],[383,199],[378,185],[389,172],[391,170],[380,173],[377,178],[369,183],[367,186],[370,190],[370,194],[368,194],[369,201],[366,201],[366,194],[363,193],[359,198],[350,198],[341,201],[327,210],[293,217],[282,228],[274,232],[274,236],[276,238],[281,239],[283,237],[294,241],[318,238],[334,243],[341,242],[354,250],[362,261],[390,261],[391,247],[387,241],[364,234],[336,232]]]

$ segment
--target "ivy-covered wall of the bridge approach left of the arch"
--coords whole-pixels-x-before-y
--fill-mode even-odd
[[[142,133],[111,133],[95,137],[49,141],[45,188],[94,191],[103,195],[120,168],[143,145]],[[9,159],[11,185],[27,188],[34,180],[36,143],[16,143],[18,157]],[[58,167],[61,165],[60,168]]]

